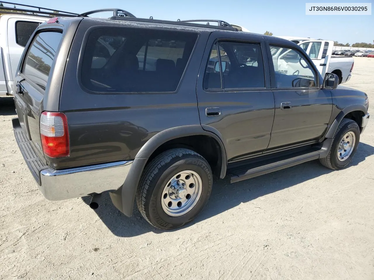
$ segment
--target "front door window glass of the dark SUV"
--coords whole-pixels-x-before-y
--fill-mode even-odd
[[[277,88],[316,87],[316,74],[298,50],[270,46]]]

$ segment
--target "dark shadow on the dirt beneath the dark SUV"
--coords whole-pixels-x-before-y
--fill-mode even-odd
[[[355,157],[347,168],[358,165],[360,162],[364,161],[365,158],[373,154],[373,146],[360,143]],[[230,178],[228,176],[224,180],[215,180],[207,205],[192,223],[184,227],[189,227],[194,223],[199,223],[200,221],[214,217],[240,203],[249,202],[258,197],[295,186],[301,182],[317,178],[330,172],[334,171],[323,167],[318,161],[311,161],[234,184],[230,184]],[[89,204],[90,197],[82,197],[82,199]],[[148,224],[142,218],[135,204],[132,217],[123,215],[111,203],[108,194],[102,196],[99,202],[99,208],[93,211],[96,212],[109,230],[119,237],[132,237],[149,231],[153,231],[154,233],[163,232],[163,230],[159,230]]]

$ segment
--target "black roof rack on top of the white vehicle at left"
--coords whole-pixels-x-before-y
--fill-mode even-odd
[[[54,9],[48,9],[48,8],[43,8],[39,6],[31,6],[31,5],[26,5],[26,4],[19,4],[19,3],[13,3],[13,2],[4,2],[1,1],[3,4],[10,4],[14,6],[21,6],[21,8],[15,8],[15,7],[6,7],[2,6],[0,7],[1,13],[31,13],[31,15],[36,15],[36,16],[42,16],[42,17],[51,17],[51,16],[77,16],[77,13],[71,13],[71,12],[65,12],[65,11],[60,11],[60,10],[54,10]],[[30,9],[34,8],[34,9]],[[9,12],[8,12],[9,11]],[[27,14],[30,15],[30,14]]]

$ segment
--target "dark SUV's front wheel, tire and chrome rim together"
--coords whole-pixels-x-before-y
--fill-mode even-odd
[[[355,155],[359,141],[358,124],[352,119],[343,119],[335,132],[327,157],[321,158],[319,161],[330,169],[344,168]]]

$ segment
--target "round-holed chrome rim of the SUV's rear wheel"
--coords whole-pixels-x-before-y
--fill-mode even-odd
[[[191,170],[178,172],[163,189],[162,209],[173,217],[184,215],[199,201],[201,191],[202,181],[196,172]]]

